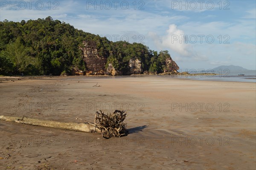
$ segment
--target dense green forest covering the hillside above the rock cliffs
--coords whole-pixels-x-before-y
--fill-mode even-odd
[[[60,75],[86,71],[80,49],[83,41],[96,42],[99,56],[107,57],[106,68],[111,63],[122,74],[130,59],[140,59],[142,71],[161,73],[170,58],[168,51],[157,53],[140,43],[111,42],[51,17],[21,22],[4,20],[0,22],[0,74]]]

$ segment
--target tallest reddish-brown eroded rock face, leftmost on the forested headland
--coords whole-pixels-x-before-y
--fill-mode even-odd
[[[87,75],[104,75],[105,65],[107,63],[106,57],[99,56],[96,48],[96,42],[83,41],[84,47],[80,48],[83,52],[83,60],[86,64]]]

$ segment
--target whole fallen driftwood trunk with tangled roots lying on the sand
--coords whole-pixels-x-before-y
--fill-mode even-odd
[[[104,112],[102,111],[100,111],[99,113],[98,111],[96,111],[94,124],[90,122],[57,122],[53,120],[34,119],[26,116],[23,116],[22,118],[17,116],[0,116],[0,120],[16,122],[26,125],[53,127],[58,129],[75,130],[90,133],[102,133],[102,137],[106,139],[109,139],[111,137],[121,137],[128,135],[126,123],[123,123],[125,118],[125,111],[119,110],[116,110],[110,114],[104,114]]]

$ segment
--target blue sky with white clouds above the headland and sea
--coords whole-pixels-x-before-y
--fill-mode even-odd
[[[168,50],[181,69],[256,69],[255,0],[0,0],[0,20],[51,16],[112,41]]]

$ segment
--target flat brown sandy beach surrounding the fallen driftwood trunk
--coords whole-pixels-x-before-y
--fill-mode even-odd
[[[92,87],[93,85],[101,87]],[[93,122],[127,110],[130,134],[0,122],[0,169],[256,169],[256,84],[148,77],[2,81],[1,115]],[[212,108],[214,107],[214,108]]]

